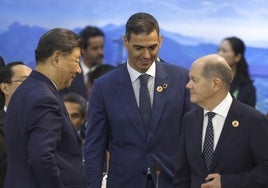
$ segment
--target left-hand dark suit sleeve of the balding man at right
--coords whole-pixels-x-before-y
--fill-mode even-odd
[[[179,158],[176,162],[174,188],[190,188],[191,187],[191,169],[187,159],[185,147],[185,118],[183,119],[183,128],[180,139]]]

